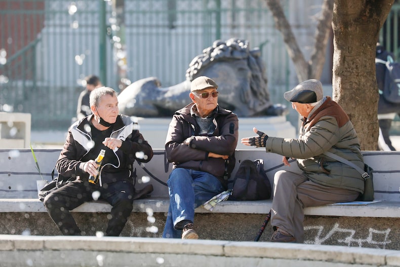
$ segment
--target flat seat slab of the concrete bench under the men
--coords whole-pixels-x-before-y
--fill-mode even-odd
[[[271,209],[272,200],[259,201],[222,201],[213,211],[202,207],[195,210],[196,213],[245,213],[266,214]],[[317,216],[343,216],[343,217],[389,217],[400,218],[400,202],[380,201],[363,205],[325,205],[306,208],[305,215]],[[133,212],[168,212],[169,199],[165,197],[141,199],[134,201]],[[85,203],[73,212],[110,212],[111,206],[103,202]],[[0,212],[46,212],[46,209],[38,199],[0,199]]]

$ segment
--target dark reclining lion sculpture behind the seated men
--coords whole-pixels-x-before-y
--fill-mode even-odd
[[[215,41],[196,56],[186,71],[186,81],[161,87],[155,77],[138,80],[118,96],[122,114],[137,117],[171,117],[190,102],[190,83],[198,76],[210,77],[218,84],[221,107],[238,117],[278,116],[287,112],[282,105],[272,105],[267,90],[265,66],[258,48],[249,42],[229,39]]]

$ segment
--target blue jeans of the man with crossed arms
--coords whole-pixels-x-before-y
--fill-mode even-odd
[[[224,191],[221,182],[208,172],[174,169],[167,181],[170,208],[163,238],[181,238],[182,229],[176,227],[182,220],[194,220],[194,209]],[[178,228],[178,229],[177,229]]]

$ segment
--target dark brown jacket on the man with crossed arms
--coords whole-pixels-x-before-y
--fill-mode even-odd
[[[197,171],[204,171],[216,176],[226,188],[226,172],[230,175],[235,160],[234,151],[238,139],[238,119],[230,110],[217,106],[214,113],[214,124],[216,129],[213,136],[200,136],[199,126],[190,115],[191,103],[175,112],[170,123],[165,151],[169,162],[175,168],[186,168]],[[189,146],[182,142],[192,137]],[[229,160],[221,158],[209,158],[208,153],[213,152],[219,155],[228,155]],[[225,175],[226,176],[226,175]]]

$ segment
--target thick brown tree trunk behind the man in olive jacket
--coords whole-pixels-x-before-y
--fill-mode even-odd
[[[394,0],[334,0],[333,99],[347,112],[362,150],[376,150],[375,50]]]

